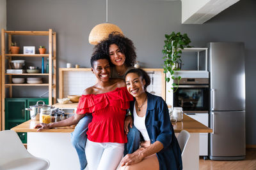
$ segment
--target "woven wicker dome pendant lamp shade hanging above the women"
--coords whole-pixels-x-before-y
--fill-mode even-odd
[[[103,39],[108,38],[111,32],[120,32],[123,34],[122,30],[115,24],[103,23],[93,27],[89,35],[89,43],[91,45],[97,45]]]

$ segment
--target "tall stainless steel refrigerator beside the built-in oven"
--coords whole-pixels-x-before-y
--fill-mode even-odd
[[[210,73],[209,157],[245,158],[244,43],[208,43]]]

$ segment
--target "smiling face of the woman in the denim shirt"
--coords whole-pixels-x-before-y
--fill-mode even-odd
[[[128,73],[125,77],[125,83],[128,92],[133,97],[140,97],[141,94],[145,93],[144,86],[145,80],[138,76],[136,73]]]

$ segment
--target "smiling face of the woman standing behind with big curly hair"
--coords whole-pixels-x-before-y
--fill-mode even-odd
[[[125,55],[121,52],[116,44],[111,44],[109,46],[109,57],[111,62],[115,66],[122,66],[125,62]]]

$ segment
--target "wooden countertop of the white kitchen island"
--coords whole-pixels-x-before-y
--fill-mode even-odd
[[[34,129],[35,125],[39,124],[39,121],[28,120],[20,125],[13,127],[11,130],[16,132],[36,132],[37,129]],[[180,132],[183,129],[190,133],[210,133],[212,129],[209,127],[197,122],[195,119],[188,117],[187,115],[183,115],[182,122],[173,123],[174,132]],[[57,127],[54,129],[47,129],[41,132],[73,132],[75,129],[74,126],[71,127]]]

